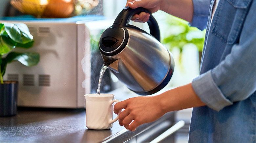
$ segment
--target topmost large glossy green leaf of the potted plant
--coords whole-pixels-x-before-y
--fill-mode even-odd
[[[4,23],[5,31],[15,42],[25,44],[33,39],[29,28],[23,23]]]

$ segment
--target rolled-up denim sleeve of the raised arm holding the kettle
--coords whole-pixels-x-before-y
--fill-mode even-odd
[[[206,28],[209,9],[211,5],[211,0],[193,0],[193,19],[189,24],[190,26],[197,27],[200,30]]]

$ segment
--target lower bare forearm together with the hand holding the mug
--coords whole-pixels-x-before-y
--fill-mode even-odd
[[[194,92],[191,84],[168,90],[156,96],[139,96],[118,102],[114,112],[119,114],[119,124],[135,129],[144,123],[159,119],[165,113],[205,105]]]

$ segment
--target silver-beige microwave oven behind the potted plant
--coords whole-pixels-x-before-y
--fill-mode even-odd
[[[84,108],[84,94],[92,92],[91,77],[94,78],[91,73],[93,60],[91,60],[90,33],[92,31],[87,24],[94,27],[92,28],[94,31],[99,31],[110,26],[104,21],[102,16],[64,19],[1,18],[1,23],[26,24],[33,36],[32,48],[26,50],[15,48],[16,52],[40,54],[40,61],[36,66],[26,67],[18,61],[7,65],[4,79],[19,82],[17,105]],[[101,27],[97,28],[96,24]],[[103,59],[100,60],[103,63]],[[100,68],[95,70],[100,71]]]

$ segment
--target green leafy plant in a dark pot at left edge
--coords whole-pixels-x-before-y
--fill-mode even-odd
[[[0,116],[13,116],[17,111],[18,81],[4,81],[6,66],[14,60],[25,66],[39,62],[38,53],[18,53],[16,47],[28,49],[34,41],[26,24],[0,23]]]

